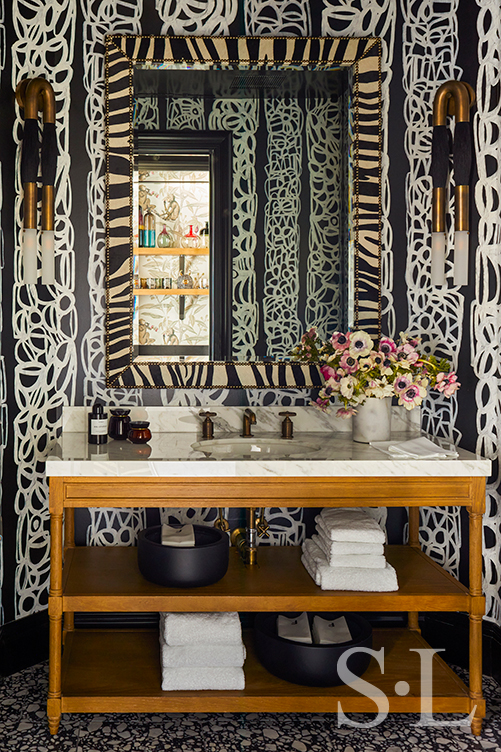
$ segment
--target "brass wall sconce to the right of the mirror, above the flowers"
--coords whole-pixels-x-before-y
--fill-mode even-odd
[[[447,81],[435,94],[431,176],[433,180],[431,283],[445,284],[446,201],[449,180],[447,115],[454,116],[454,284],[468,283],[469,182],[472,164],[470,108],[475,92],[462,81]]]

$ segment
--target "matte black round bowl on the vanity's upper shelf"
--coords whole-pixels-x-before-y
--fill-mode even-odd
[[[193,525],[195,546],[162,545],[162,526],[141,530],[137,563],[143,577],[165,587],[203,587],[226,574],[229,538],[215,527]]]

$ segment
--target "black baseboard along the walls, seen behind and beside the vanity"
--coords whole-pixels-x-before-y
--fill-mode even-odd
[[[406,614],[365,614],[373,626],[402,627]],[[252,614],[242,614],[244,626],[252,625]],[[79,613],[77,629],[138,629],[156,627],[156,613]],[[441,657],[451,664],[468,668],[468,615],[464,613],[421,613],[424,639],[435,648],[446,648]],[[482,624],[483,673],[501,684],[501,627],[489,621]],[[49,656],[49,619],[47,611],[0,627],[0,676],[9,676],[23,668],[47,660]]]

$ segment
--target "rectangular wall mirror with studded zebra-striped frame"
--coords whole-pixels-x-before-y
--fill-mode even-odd
[[[380,52],[107,38],[108,386],[312,387],[305,329],[378,336]]]

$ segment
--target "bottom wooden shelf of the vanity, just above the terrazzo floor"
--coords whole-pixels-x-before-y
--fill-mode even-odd
[[[163,692],[156,630],[77,630],[63,655],[62,712],[377,712],[375,701],[354,687],[303,687],[277,679],[256,660],[246,635],[246,686],[239,691]],[[421,711],[419,654],[429,647],[416,632],[374,632],[373,649],[384,647],[384,674],[372,659],[363,679],[382,690],[389,712]],[[409,692],[395,692],[397,682]],[[364,690],[366,692],[366,690]],[[468,689],[437,656],[433,661],[433,712],[469,712]]]

